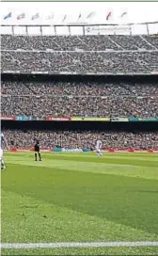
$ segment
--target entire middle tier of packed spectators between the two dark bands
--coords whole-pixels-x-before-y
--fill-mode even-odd
[[[7,82],[2,116],[158,117],[158,85],[95,82]]]

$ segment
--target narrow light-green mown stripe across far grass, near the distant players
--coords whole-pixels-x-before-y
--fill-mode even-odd
[[[149,167],[143,166],[130,166],[130,165],[116,165],[109,163],[85,163],[85,162],[76,162],[76,161],[65,161],[61,159],[46,159],[43,162],[34,162],[34,161],[26,161],[22,159],[14,159],[9,158],[7,161],[7,167],[9,165],[17,165],[17,166],[30,166],[30,167],[38,167],[38,168],[52,168],[62,170],[73,170],[73,171],[81,171],[81,172],[90,172],[90,173],[98,173],[98,174],[110,174],[110,175],[119,175],[124,177],[134,177],[141,179],[150,179],[150,180],[158,180],[157,169],[156,167],[151,167],[149,171]]]

